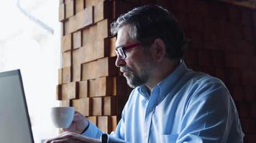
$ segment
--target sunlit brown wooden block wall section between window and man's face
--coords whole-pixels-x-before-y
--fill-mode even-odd
[[[116,128],[131,91],[114,64],[116,37],[110,35],[110,23],[124,11],[116,7],[109,0],[61,0],[59,6],[62,56],[56,99],[108,133]]]

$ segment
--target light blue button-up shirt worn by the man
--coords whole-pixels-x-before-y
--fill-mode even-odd
[[[90,123],[84,135],[104,134]],[[135,88],[108,141],[170,143],[240,143],[244,133],[227,87],[219,80],[187,69],[184,62],[151,94]]]

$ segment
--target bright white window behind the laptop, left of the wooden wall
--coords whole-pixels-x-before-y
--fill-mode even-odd
[[[0,71],[21,69],[36,143],[58,134],[50,119],[50,107],[58,106],[58,4],[51,0],[0,1]]]

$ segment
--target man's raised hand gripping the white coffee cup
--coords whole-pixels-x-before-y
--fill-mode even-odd
[[[83,129],[86,129],[89,122],[86,117],[84,117],[81,113],[75,112],[73,122],[70,124],[70,127],[67,129],[63,129],[64,132],[75,132],[77,134],[81,134]]]

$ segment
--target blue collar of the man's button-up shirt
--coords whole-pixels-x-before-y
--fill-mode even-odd
[[[186,64],[184,61],[181,61],[178,67],[171,72],[168,77],[165,77],[163,81],[159,82],[157,85],[155,85],[155,87],[153,87],[152,91],[157,88],[159,89],[159,97],[157,97],[158,102],[162,101],[166,97],[166,95],[172,90],[172,88],[187,70],[188,68]],[[139,87],[138,92],[140,92],[140,94],[142,94],[142,96],[146,99],[150,98],[150,94],[145,85]]]

